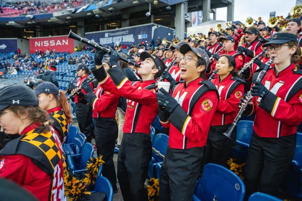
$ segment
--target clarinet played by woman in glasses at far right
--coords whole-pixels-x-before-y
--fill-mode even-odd
[[[267,73],[267,70],[269,69],[270,65],[271,65],[272,62],[273,62],[273,59],[274,59],[274,57],[272,57],[270,60],[268,60],[268,62],[266,63],[266,66],[265,66],[264,69],[260,72],[260,74],[259,74],[259,76],[258,76],[258,78],[257,78],[256,81],[260,81],[260,82],[261,82],[261,81],[263,80],[264,76],[265,76],[266,73]],[[234,120],[232,126],[231,126],[225,133],[223,133],[223,135],[225,135],[225,136],[228,137],[228,138],[231,138],[231,135],[232,135],[232,133],[233,133],[233,130],[234,130],[235,127],[237,126],[239,120],[240,120],[241,117],[242,117],[243,112],[246,110],[246,108],[248,107],[248,105],[250,104],[250,102],[251,102],[251,100],[252,100],[252,98],[253,98],[251,90],[248,91],[247,96],[248,96],[247,103],[246,103],[244,106],[242,106],[241,109],[239,110],[238,115],[236,116],[236,118],[235,118],[235,120]]]

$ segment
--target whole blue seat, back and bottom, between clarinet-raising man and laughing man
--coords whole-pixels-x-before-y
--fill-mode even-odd
[[[165,155],[167,148],[168,148],[168,140],[169,136],[163,133],[159,133],[155,136],[153,147],[160,151],[161,154]],[[152,159],[149,162],[149,169],[148,169],[148,177],[157,177],[160,178],[160,172],[161,172],[161,167],[163,163],[163,158],[155,152],[152,152]]]

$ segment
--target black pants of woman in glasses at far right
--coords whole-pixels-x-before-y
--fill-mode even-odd
[[[295,144],[296,134],[263,138],[254,131],[244,170],[246,200],[256,191],[278,196],[278,187],[293,159]]]

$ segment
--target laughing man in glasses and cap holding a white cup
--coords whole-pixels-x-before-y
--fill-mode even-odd
[[[189,44],[183,44],[179,51],[184,55],[180,61],[183,81],[175,85],[172,95],[163,88],[157,93],[161,124],[170,127],[160,179],[160,200],[165,201],[192,200],[210,123],[218,105],[216,87],[204,80],[209,64],[207,54]]]

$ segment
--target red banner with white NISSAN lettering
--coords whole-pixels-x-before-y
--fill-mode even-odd
[[[41,50],[43,53],[48,49],[55,52],[70,52],[73,53],[74,49],[73,39],[67,38],[67,36],[52,36],[52,37],[40,37],[29,39],[29,51],[35,53],[36,50]]]

